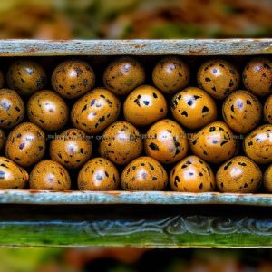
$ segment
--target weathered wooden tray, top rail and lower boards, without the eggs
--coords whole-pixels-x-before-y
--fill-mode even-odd
[[[260,55],[272,39],[2,40],[0,56]],[[0,191],[0,246],[272,247],[272,195]]]

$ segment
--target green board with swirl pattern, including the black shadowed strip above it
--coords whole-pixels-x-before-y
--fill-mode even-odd
[[[16,205],[0,216],[0,246],[272,247],[267,208]]]

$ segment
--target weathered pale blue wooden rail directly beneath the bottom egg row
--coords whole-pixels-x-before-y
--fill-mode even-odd
[[[272,207],[272,194],[179,193],[172,191],[43,191],[0,190],[3,204],[228,204]]]

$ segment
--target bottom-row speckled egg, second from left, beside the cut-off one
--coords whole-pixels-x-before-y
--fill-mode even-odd
[[[71,187],[69,173],[53,160],[42,160],[34,166],[29,177],[30,189],[67,190]]]

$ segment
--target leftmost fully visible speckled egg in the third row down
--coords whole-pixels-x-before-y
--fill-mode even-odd
[[[23,167],[42,160],[44,151],[44,131],[31,122],[23,122],[16,126],[5,141],[6,157]]]

